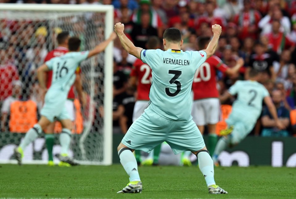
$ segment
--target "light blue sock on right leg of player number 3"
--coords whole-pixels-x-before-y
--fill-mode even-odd
[[[208,152],[202,151],[197,154],[198,166],[201,173],[204,174],[207,186],[216,185],[214,180],[214,164]]]

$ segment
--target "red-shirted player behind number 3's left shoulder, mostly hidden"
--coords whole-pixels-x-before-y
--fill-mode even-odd
[[[158,37],[152,36],[146,43],[147,49],[158,49],[160,46]],[[138,119],[144,113],[144,110],[148,107],[149,92],[151,86],[151,73],[150,66],[143,63],[141,59],[137,59],[133,65],[133,69],[130,73],[130,86],[137,86],[137,101],[134,106],[133,122]],[[152,150],[146,160],[142,164],[151,165],[158,164],[158,157],[160,153],[160,146]],[[137,163],[141,163],[141,151],[135,150]]]

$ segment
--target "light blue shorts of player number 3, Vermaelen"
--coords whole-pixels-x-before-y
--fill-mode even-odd
[[[150,153],[166,141],[175,154],[198,151],[205,147],[204,139],[193,120],[179,122],[168,120],[147,108],[131,125],[121,143],[131,149]]]

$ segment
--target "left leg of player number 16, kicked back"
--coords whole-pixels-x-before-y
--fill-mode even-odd
[[[53,118],[51,119],[53,120]],[[43,130],[46,129],[46,127],[50,123],[51,121],[48,120],[45,116],[41,116],[38,123],[29,129],[29,131],[26,133],[24,139],[21,141],[19,146],[14,149],[14,154],[19,164],[22,164],[23,151],[26,149],[26,147],[31,142],[33,142],[38,136],[40,136]]]

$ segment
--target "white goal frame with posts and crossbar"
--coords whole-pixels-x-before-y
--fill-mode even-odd
[[[114,24],[114,7],[112,5],[67,5],[67,4],[13,4],[0,3],[0,11],[67,11],[67,12],[105,12],[105,39],[113,32]],[[113,149],[113,133],[112,133],[112,103],[113,103],[113,42],[105,49],[104,55],[104,148],[103,161],[79,161],[81,164],[97,164],[111,165],[112,164],[112,149]],[[83,134],[82,134],[83,136]],[[6,163],[16,163],[9,161]],[[44,164],[43,161],[24,162],[31,164]]]

